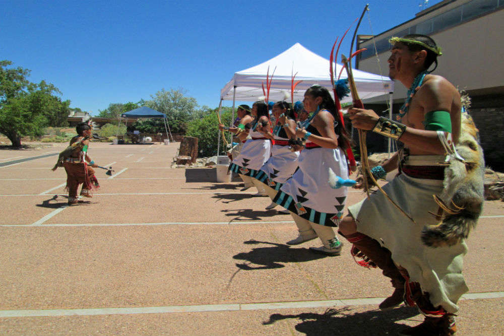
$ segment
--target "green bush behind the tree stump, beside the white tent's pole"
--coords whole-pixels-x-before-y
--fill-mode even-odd
[[[229,125],[231,120],[231,114],[225,112],[221,115],[221,120],[224,125]],[[187,137],[198,138],[198,154],[200,157],[210,157],[217,155],[217,137],[219,133],[219,121],[217,119],[217,114],[211,112],[203,116],[201,119],[195,119],[187,124],[187,131],[185,135]],[[227,140],[229,142],[230,136],[229,132],[224,132]],[[222,148],[221,140],[221,152],[225,149]]]

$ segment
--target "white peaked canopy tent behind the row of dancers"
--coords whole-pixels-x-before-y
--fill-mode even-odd
[[[342,65],[335,63],[333,67],[337,79]],[[296,43],[281,54],[261,64],[236,72],[233,78],[222,88],[220,104],[222,104],[223,100],[233,101],[232,120],[234,119],[235,101],[257,101],[259,97],[264,96],[262,85],[264,83],[266,88],[268,68],[270,78],[273,71],[275,71],[271,83],[270,101],[283,100],[285,92],[290,94],[292,72],[297,73],[295,82],[302,81],[296,86],[294,101],[302,101],[306,89],[315,84],[326,87],[332,94],[329,59],[306,49],[300,43]],[[353,70],[353,77],[359,97],[362,100],[387,94],[389,94],[389,99],[392,100],[394,82],[389,78],[355,69]],[[341,78],[347,78],[346,71],[342,72]],[[346,97],[342,100],[342,103],[351,101],[350,97]],[[392,103],[390,106],[392,106]],[[391,114],[392,111],[389,113]],[[217,148],[217,153],[219,153],[219,148]]]

